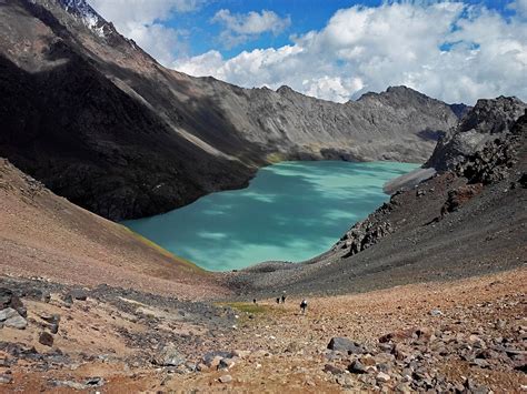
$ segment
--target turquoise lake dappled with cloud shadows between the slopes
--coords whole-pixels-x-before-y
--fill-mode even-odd
[[[270,260],[299,262],[327,251],[355,222],[388,201],[382,184],[419,164],[284,162],[249,188],[122,224],[210,271]]]

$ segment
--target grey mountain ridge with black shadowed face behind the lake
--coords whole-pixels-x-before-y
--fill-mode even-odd
[[[458,121],[404,87],[332,103],[159,65],[83,0],[0,1],[0,155],[113,220],[285,159],[425,161]]]

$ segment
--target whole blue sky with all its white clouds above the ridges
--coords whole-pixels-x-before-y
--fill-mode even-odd
[[[527,101],[527,0],[88,0],[161,64],[346,102],[405,84]]]

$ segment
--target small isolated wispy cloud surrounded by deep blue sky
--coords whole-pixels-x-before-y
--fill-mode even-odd
[[[261,12],[231,13],[221,9],[216,12],[211,22],[223,26],[220,40],[227,48],[236,47],[265,32],[281,33],[291,24],[291,19],[280,18],[276,12],[262,10]]]

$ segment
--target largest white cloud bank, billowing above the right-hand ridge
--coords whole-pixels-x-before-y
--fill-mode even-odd
[[[218,51],[172,67],[242,87],[281,84],[345,102],[365,91],[405,84],[448,102],[499,94],[527,100],[527,0],[505,18],[460,2],[391,2],[337,11],[292,44],[223,59]]]

